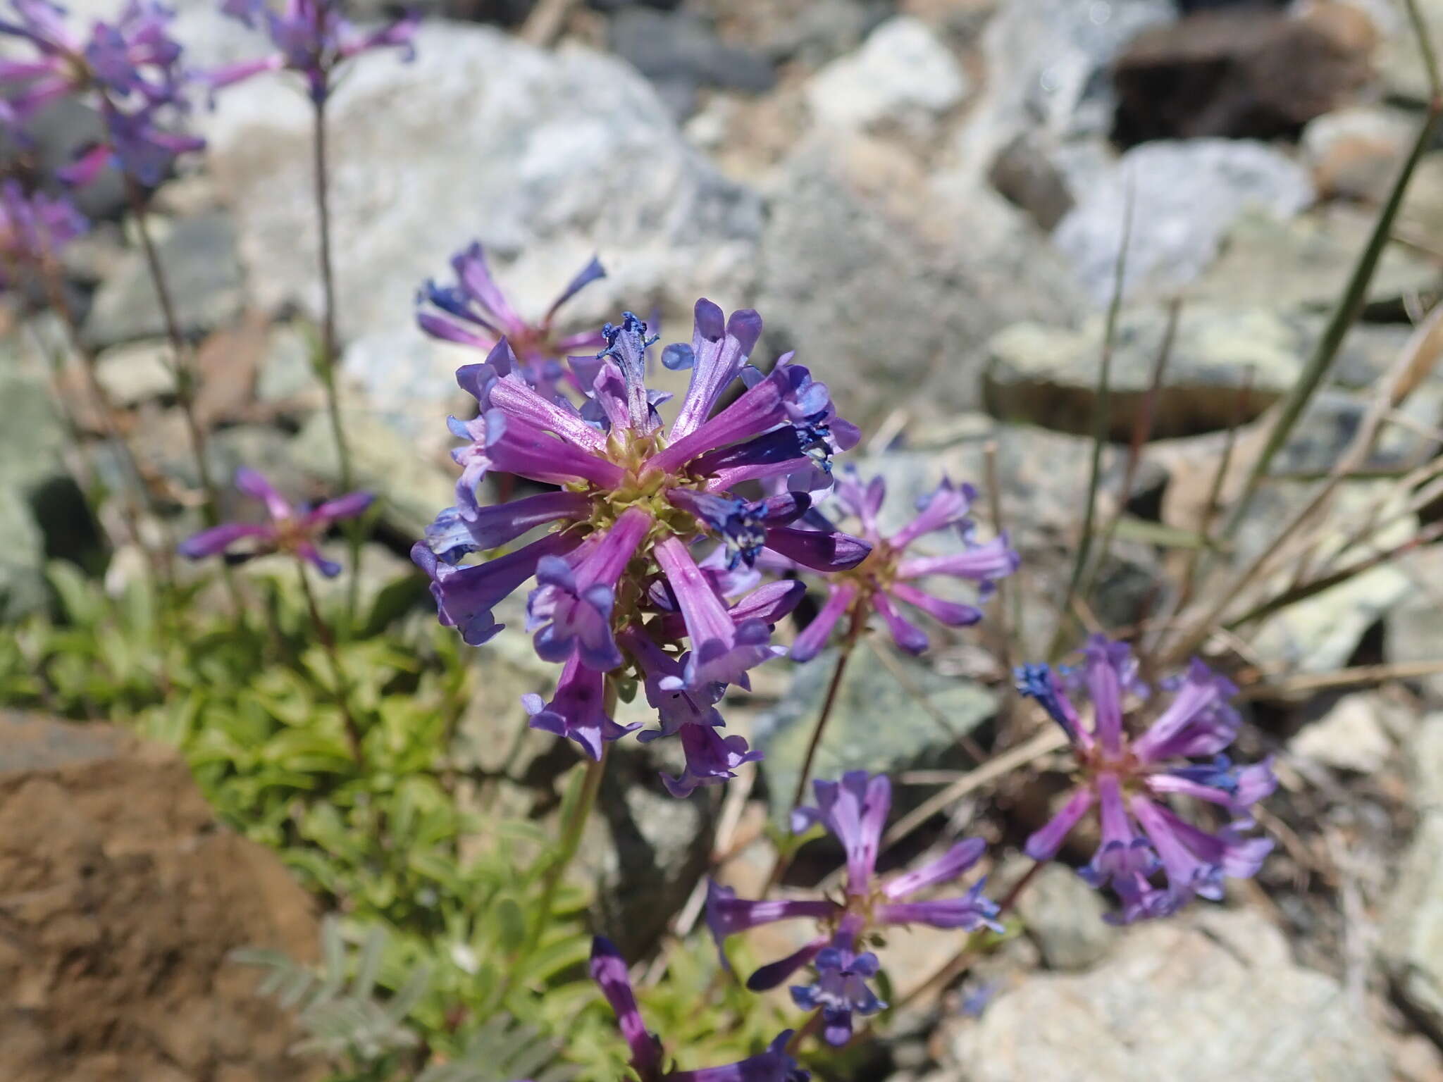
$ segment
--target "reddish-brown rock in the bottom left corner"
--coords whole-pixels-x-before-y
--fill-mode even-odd
[[[317,1076],[240,946],[315,955],[312,902],[216,825],[185,760],[108,726],[0,716],[0,1075]]]

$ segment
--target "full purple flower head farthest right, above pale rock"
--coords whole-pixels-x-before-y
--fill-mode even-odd
[[[1248,834],[1254,825],[1248,809],[1277,786],[1271,760],[1238,767],[1224,755],[1241,724],[1228,705],[1237,688],[1193,661],[1173,682],[1172,701],[1134,737],[1123,721],[1124,695],[1137,688],[1131,652],[1124,643],[1094,636],[1082,655],[1091,727],[1082,724],[1052,669],[1017,669],[1017,690],[1062,726],[1081,776],[1052,821],[1027,838],[1027,856],[1055,857],[1095,806],[1101,844],[1081,874],[1094,887],[1111,886],[1118,896],[1121,910],[1110,920],[1167,916],[1193,896],[1221,899],[1225,877],[1254,876],[1273,848],[1270,840]],[[1169,808],[1170,795],[1216,805],[1231,821],[1208,832]],[[1163,886],[1153,881],[1159,874]]]

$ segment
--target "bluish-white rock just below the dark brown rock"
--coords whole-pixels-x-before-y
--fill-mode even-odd
[[[1266,143],[1193,138],[1134,147],[1079,195],[1052,235],[1100,304],[1113,293],[1128,201],[1124,296],[1156,296],[1202,274],[1245,211],[1291,218],[1313,202],[1313,185],[1307,170]]]

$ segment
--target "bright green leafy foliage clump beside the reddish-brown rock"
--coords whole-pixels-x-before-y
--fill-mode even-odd
[[[0,705],[179,747],[221,819],[320,897],[332,916],[317,972],[247,959],[299,1010],[302,1050],[338,1082],[626,1076],[586,971],[587,892],[561,884],[537,926],[556,831],[465,798],[473,779],[450,746],[481,674],[411,604],[417,581],[384,590],[336,645],[359,762],[291,579],[248,576],[241,619],[212,600],[215,583],[166,593],[137,579],[110,596],[66,564],[51,583],[55,616],[0,638]],[[566,779],[563,814],[582,773]],[[683,1066],[745,1057],[789,1024],[720,971],[709,942],[674,944],[665,959],[641,1000]]]

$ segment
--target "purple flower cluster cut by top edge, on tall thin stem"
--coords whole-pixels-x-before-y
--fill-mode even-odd
[[[276,52],[219,68],[206,75],[212,89],[229,87],[268,71],[293,71],[306,81],[312,101],[322,102],[335,88],[336,71],[354,56],[387,46],[411,59],[417,16],[408,14],[374,30],[359,30],[341,13],[338,0],[224,0],[228,16],[245,26],[264,23]]]

